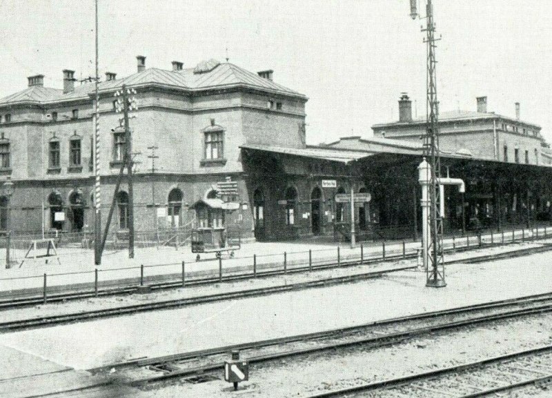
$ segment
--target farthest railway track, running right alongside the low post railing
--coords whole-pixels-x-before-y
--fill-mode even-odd
[[[517,242],[514,242],[517,243]],[[494,247],[499,246],[498,244],[494,243],[482,243],[482,246],[471,246],[471,247],[462,247],[462,248],[454,248],[454,249],[447,249],[446,252],[464,252],[469,250],[479,250],[481,248],[486,247]],[[521,257],[525,255],[531,255],[539,252],[546,252],[552,250],[552,244],[550,243],[544,243],[542,246],[534,247],[534,248],[522,248],[519,250],[511,250],[509,252],[502,252],[502,253],[494,253],[489,255],[480,255],[475,256],[470,259],[461,259],[461,260],[453,260],[453,261],[445,261],[446,264],[454,264],[454,263],[477,263],[477,262],[483,262],[483,261],[493,261],[497,259],[505,259],[505,258],[511,258],[511,257]],[[259,270],[257,271],[255,277],[257,278],[263,278],[263,277],[274,277],[278,275],[284,275],[284,273],[288,274],[294,274],[294,273],[300,273],[300,272],[310,272],[310,271],[316,271],[316,270],[328,270],[332,268],[344,268],[344,267],[350,267],[350,266],[358,266],[361,264],[371,264],[371,263],[382,263],[382,262],[391,262],[391,261],[397,261],[401,259],[414,259],[417,257],[416,252],[405,252],[404,254],[399,255],[387,255],[384,259],[382,257],[366,257],[365,259],[353,259],[353,260],[342,260],[342,261],[328,261],[326,263],[318,263],[313,264],[312,266],[301,266],[301,267],[293,267],[288,268],[287,270]],[[221,278],[219,277],[208,277],[208,278],[198,278],[194,279],[192,281],[186,281],[183,283],[181,279],[178,280],[172,280],[172,281],[162,281],[162,282],[155,282],[155,283],[148,283],[152,291],[156,290],[165,290],[165,289],[171,289],[171,288],[181,288],[183,286],[187,287],[193,287],[193,286],[205,286],[208,284],[213,283],[221,283],[221,282],[230,282],[230,281],[242,281],[246,279],[251,279],[253,275],[226,275]],[[177,279],[177,278],[175,278]],[[116,288],[105,288],[105,289],[84,289],[81,291],[71,291],[71,292],[62,292],[62,293],[50,293],[48,295],[48,298],[45,300],[44,295],[35,295],[32,297],[23,297],[23,298],[10,298],[10,299],[0,299],[0,311],[1,310],[9,310],[13,308],[23,308],[28,306],[36,306],[39,304],[46,304],[48,303],[57,303],[57,302],[66,302],[70,300],[77,300],[77,299],[87,299],[91,297],[108,297],[108,296],[114,296],[114,295],[128,295],[137,292],[139,286],[119,286]],[[1,330],[1,328],[0,328]]]

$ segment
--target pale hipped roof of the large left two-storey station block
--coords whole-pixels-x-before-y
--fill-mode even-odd
[[[208,61],[209,67],[213,66],[213,61]],[[205,68],[208,69],[208,68]],[[264,79],[258,74],[244,70],[233,63],[215,64],[213,69],[203,70],[194,73],[195,68],[183,70],[164,70],[158,68],[148,68],[135,74],[130,74],[122,79],[101,81],[98,88],[101,91],[111,91],[126,86],[148,86],[158,84],[171,88],[181,88],[190,91],[208,90],[212,88],[227,88],[233,86],[244,86],[248,88],[257,88],[273,92],[274,94],[288,94],[294,97],[306,98],[297,91],[290,90],[275,83],[274,81]],[[68,101],[74,99],[88,98],[95,90],[94,83],[85,83],[81,86],[75,86],[75,90],[63,94],[63,90],[57,88],[46,88],[34,86],[21,92],[11,94],[8,97],[0,99],[0,106],[16,102],[56,102]]]

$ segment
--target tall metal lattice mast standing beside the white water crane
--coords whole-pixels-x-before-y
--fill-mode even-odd
[[[418,17],[417,0],[411,0],[411,17]],[[422,26],[422,32],[426,32],[424,43],[427,45],[427,90],[426,90],[426,120],[427,130],[424,139],[424,153],[431,164],[431,173],[428,176],[429,183],[429,230],[431,240],[428,245],[428,264],[426,268],[426,286],[440,288],[446,286],[444,280],[444,261],[443,261],[443,222],[442,215],[439,212],[438,203],[444,198],[440,198],[439,179],[441,177],[441,161],[439,156],[439,134],[437,118],[439,115],[439,102],[437,101],[437,74],[435,66],[435,48],[436,42],[440,38],[435,38],[435,22],[433,20],[433,3],[426,0],[426,28]],[[424,220],[426,222],[426,220]]]

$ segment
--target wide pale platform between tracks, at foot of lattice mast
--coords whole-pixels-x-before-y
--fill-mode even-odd
[[[0,335],[0,347],[83,370],[544,293],[552,286],[551,260],[552,252],[544,252],[451,265],[446,269],[448,284],[440,289],[425,287],[424,272],[404,271],[356,283],[14,332]],[[239,283],[252,287],[255,282]]]

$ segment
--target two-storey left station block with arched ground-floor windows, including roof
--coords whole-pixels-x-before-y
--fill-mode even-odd
[[[43,75],[36,75],[28,77],[28,88],[0,100],[0,177],[14,182],[10,201],[14,232],[83,232],[94,226],[95,84],[75,83],[72,70],[61,74],[63,89],[44,87]],[[102,80],[102,223],[115,195],[111,229],[128,227],[125,179],[114,192],[126,145],[124,132],[117,128],[122,115],[115,112],[114,93],[126,85],[137,92],[138,103],[130,113],[135,229],[189,227],[195,220],[252,235],[239,146],[304,147],[307,98],[273,81],[272,70],[253,73],[215,60],[193,68],[173,61],[172,68],[162,70],[146,68],[146,57],[139,56],[135,74],[119,79],[108,72]],[[217,192],[221,181],[236,183],[230,199],[239,201],[239,211],[221,210]],[[0,197],[2,229],[8,222],[7,201]]]

